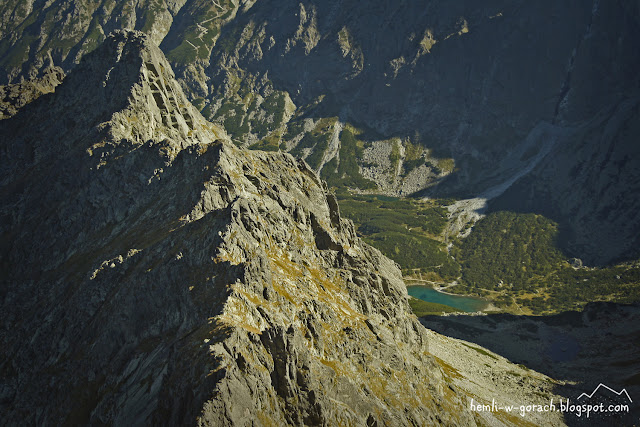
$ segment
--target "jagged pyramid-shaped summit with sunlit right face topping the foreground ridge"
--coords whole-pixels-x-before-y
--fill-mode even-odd
[[[114,31],[87,62],[108,99],[127,97],[108,124],[112,139],[168,140],[174,150],[228,139],[187,100],[164,54],[144,33]]]

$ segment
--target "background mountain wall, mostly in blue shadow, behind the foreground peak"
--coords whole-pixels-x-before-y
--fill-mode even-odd
[[[0,16],[0,83],[141,30],[237,145],[335,188],[501,188],[492,209],[559,223],[567,256],[639,255],[637,2],[8,0]]]

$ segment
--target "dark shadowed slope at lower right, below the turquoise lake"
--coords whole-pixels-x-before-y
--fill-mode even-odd
[[[425,327],[453,338],[481,345],[513,363],[566,384],[554,392],[570,404],[628,404],[628,413],[590,414],[588,425],[631,425],[640,411],[640,303],[590,303],[583,312],[554,316],[426,316]],[[633,402],[619,396],[580,397],[598,384],[626,389]],[[601,394],[601,393],[600,393]],[[596,400],[600,399],[600,400]],[[558,402],[556,402],[558,403]],[[575,411],[574,411],[575,412]],[[606,415],[606,416],[605,416]],[[633,418],[633,417],[636,418]],[[585,425],[581,417],[565,413],[569,425]]]

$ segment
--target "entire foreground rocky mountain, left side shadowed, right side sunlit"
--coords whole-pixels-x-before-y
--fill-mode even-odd
[[[3,424],[472,424],[398,267],[119,32],[0,123]]]

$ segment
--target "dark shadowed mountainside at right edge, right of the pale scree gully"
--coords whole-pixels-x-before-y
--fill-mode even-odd
[[[640,97],[630,96],[558,138],[493,209],[541,213],[560,223],[561,244],[587,265],[638,256]]]

